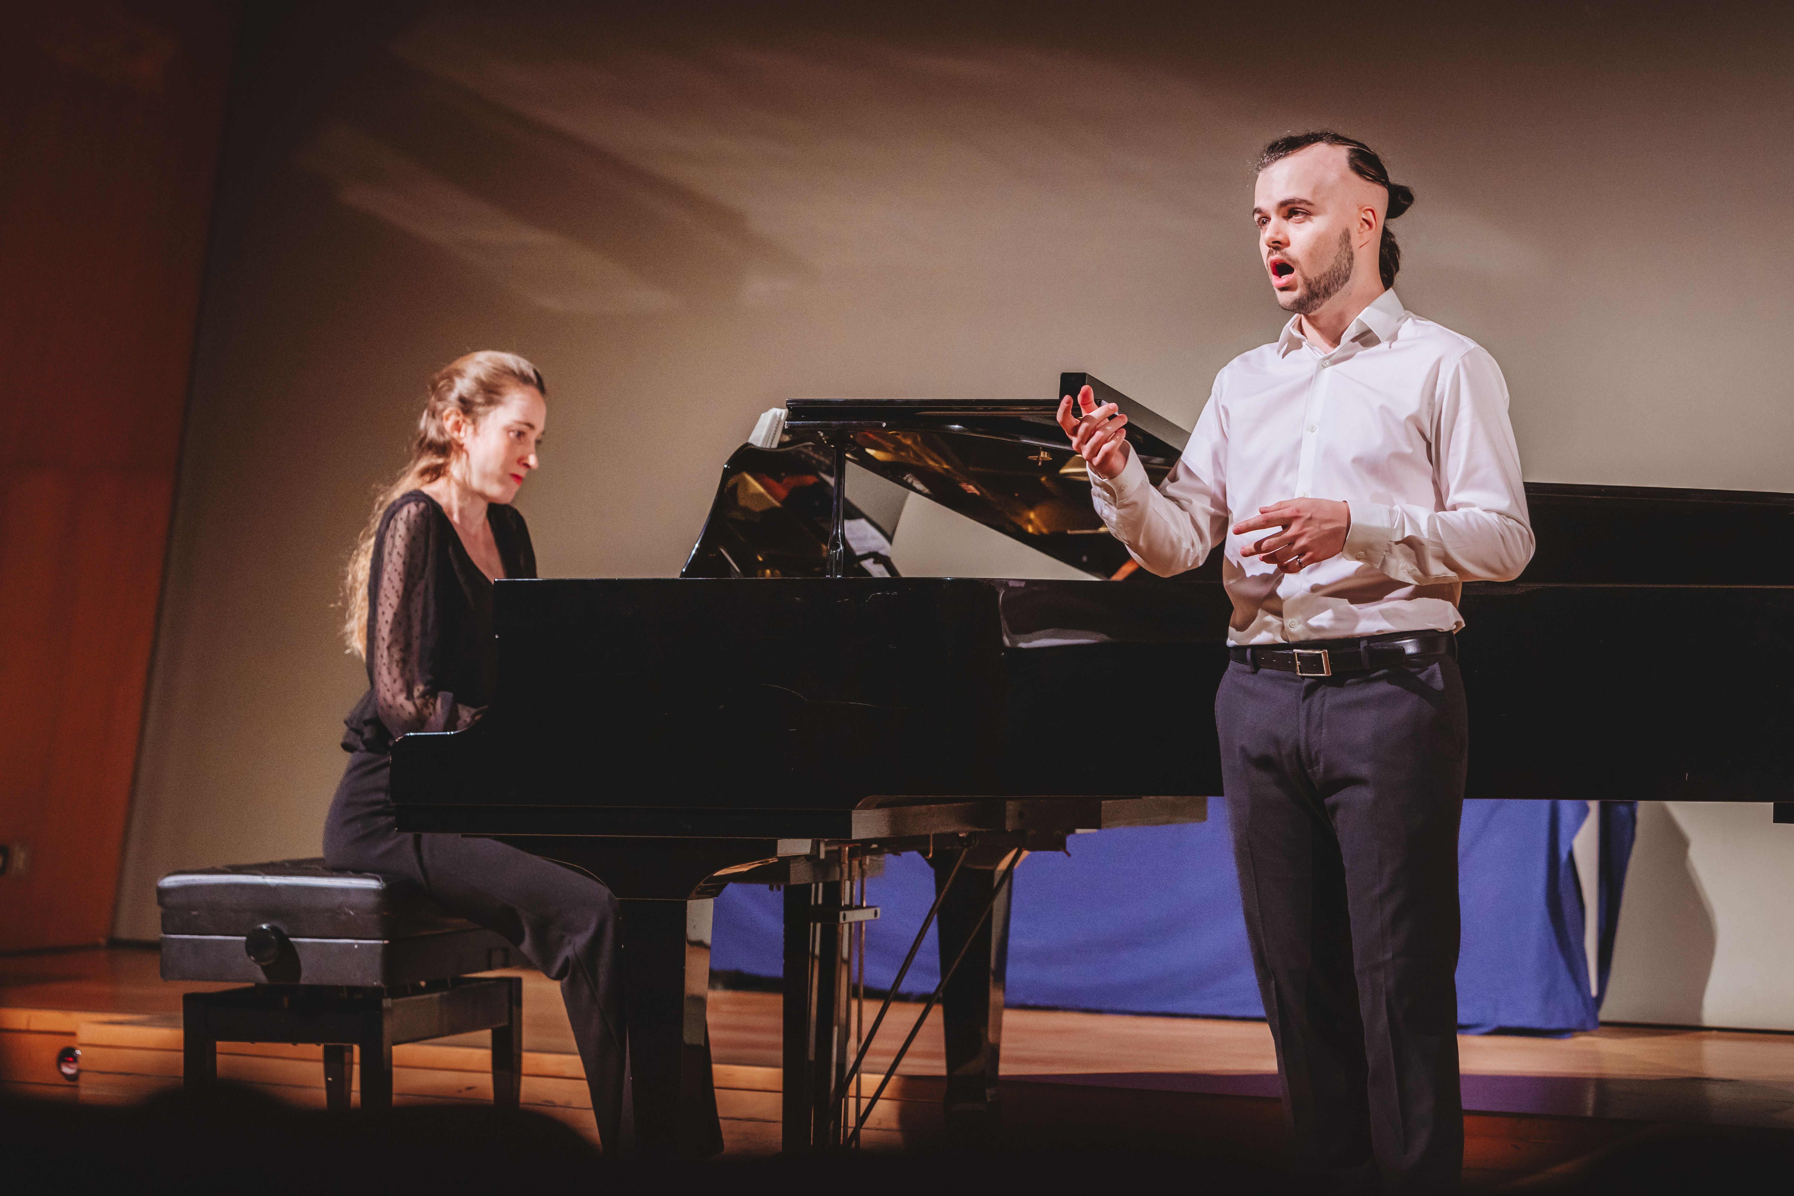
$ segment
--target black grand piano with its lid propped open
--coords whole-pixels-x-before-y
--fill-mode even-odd
[[[850,1140],[874,1088],[849,1083],[865,880],[888,854],[927,857],[947,1130],[978,1139],[1015,866],[1078,832],[1198,821],[1222,791],[1220,559],[1132,568],[1053,418],[1085,382],[1163,479],[1188,432],[1082,373],[1041,400],[791,400],[723,466],[678,579],[497,583],[486,715],[393,746],[400,830],[502,839],[621,898],[628,1148],[721,1146],[703,1079],[723,886],[784,889],[784,1146],[804,1149]],[[849,463],[1091,581],[901,577]],[[1527,497],[1532,565],[1464,590],[1469,796],[1765,802],[1794,821],[1794,495]],[[1096,724],[1116,746],[1091,760],[1071,744]]]

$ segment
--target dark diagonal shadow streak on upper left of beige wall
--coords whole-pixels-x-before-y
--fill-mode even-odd
[[[398,57],[298,165],[341,203],[576,316],[752,305],[811,278],[743,213]]]

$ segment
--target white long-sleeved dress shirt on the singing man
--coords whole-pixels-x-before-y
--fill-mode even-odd
[[[1457,631],[1466,581],[1507,581],[1532,559],[1507,382],[1489,353],[1376,298],[1324,351],[1297,332],[1227,362],[1189,446],[1157,490],[1136,454],[1091,475],[1103,524],[1161,576],[1225,542],[1231,644]],[[1285,498],[1344,498],[1346,549],[1285,574],[1241,556],[1277,534],[1231,536]]]

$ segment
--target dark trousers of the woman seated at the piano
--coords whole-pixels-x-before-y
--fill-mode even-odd
[[[560,981],[599,1140],[615,1149],[624,1110],[617,898],[581,871],[504,843],[400,834],[388,809],[389,771],[388,755],[350,755],[325,821],[325,864],[404,877],[448,913],[508,938]]]

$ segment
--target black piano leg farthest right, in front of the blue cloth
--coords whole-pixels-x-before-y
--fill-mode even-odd
[[[953,873],[956,852],[936,850],[935,891]],[[997,1142],[997,1056],[1003,1045],[1003,975],[1008,963],[1008,911],[1014,886],[1005,886],[990,916],[976,925],[1001,870],[994,862],[965,861],[940,904],[940,968],[945,972],[971,940],[965,961],[942,993],[942,1033],[947,1045],[947,1140],[954,1146]],[[976,925],[976,929],[974,929]]]

